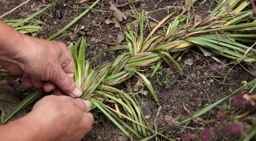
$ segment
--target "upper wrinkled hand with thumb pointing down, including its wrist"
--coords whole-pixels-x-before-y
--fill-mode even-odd
[[[23,35],[2,22],[0,27],[3,34],[8,33],[0,39],[0,65],[4,69],[11,74],[23,74],[26,87],[43,87],[47,92],[54,90],[54,95],[66,93],[73,98],[82,95],[71,78],[74,61],[64,43]]]

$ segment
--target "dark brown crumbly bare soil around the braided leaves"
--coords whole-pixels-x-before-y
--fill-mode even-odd
[[[15,1],[15,0],[1,0],[0,1],[0,15],[6,13],[7,11],[13,9],[17,5],[21,4],[25,0],[21,1]],[[153,0],[154,4],[157,4],[159,0]],[[204,1],[204,0],[203,0]],[[66,1],[67,2],[67,1]],[[73,1],[74,2],[74,1]],[[115,4],[115,0],[113,0],[113,4]],[[119,0],[119,4],[123,4],[126,1]],[[11,14],[8,14],[1,20],[5,19],[21,19],[24,18],[24,15],[26,14],[33,14],[37,10],[42,9],[45,4],[51,3],[51,0],[43,0],[43,1],[35,1],[31,0],[27,4],[21,6],[19,9],[16,9]],[[86,3],[79,4],[78,6],[88,6],[91,5],[93,1],[89,1]],[[178,6],[181,1],[169,1],[164,0],[160,2],[160,4],[157,6],[156,9],[161,9],[166,6]],[[194,5],[195,9],[198,9],[199,11],[202,10],[208,10],[212,1],[197,1]],[[145,6],[145,11],[153,11],[154,10],[154,4],[151,0],[145,0],[140,1],[137,3],[134,3],[133,6],[136,9],[141,8],[142,6]],[[72,4],[71,4],[72,6]],[[76,6],[76,5],[74,5]],[[212,4],[212,7],[210,9],[215,8],[216,3],[214,2]],[[94,8],[95,9],[108,9],[110,7],[109,1],[102,0],[100,1]],[[125,11],[127,9],[130,9],[129,6],[120,7],[118,8],[120,11]],[[79,14],[82,13],[84,9],[79,9]],[[106,10],[107,11],[107,10]],[[168,10],[169,13],[173,11],[173,9]],[[159,10],[153,13],[150,13],[149,16],[152,18],[161,21],[167,14],[167,9]],[[41,21],[44,21],[43,30],[38,32],[37,38],[43,38],[46,39],[62,29],[64,26],[66,26],[69,22],[71,22],[74,17],[76,16],[77,11],[74,9],[71,9],[68,6],[64,6],[63,4],[56,4],[51,9],[45,11],[44,13],[39,15],[39,19]],[[108,13],[101,13],[101,12],[95,12],[91,11],[89,14],[85,15],[82,19],[80,19],[76,24],[74,24],[71,28],[69,28],[67,31],[62,33],[61,35],[67,35],[69,33],[74,33],[74,30],[77,26],[79,29],[81,26],[85,26],[83,30],[81,30],[79,33],[77,33],[77,36],[75,38],[70,37],[63,37],[57,39],[57,41],[61,41],[66,43],[67,45],[70,43],[70,41],[73,39],[74,41],[77,41],[77,39],[81,36],[88,36],[88,43],[89,46],[87,47],[88,57],[87,59],[91,59],[94,57],[99,51],[102,51],[104,48],[111,47],[110,45],[107,45],[105,43],[97,43],[96,41],[100,40],[102,42],[112,43],[115,42],[117,39],[117,34],[119,32],[122,32],[124,28],[115,28],[113,24],[105,24],[105,20],[107,19]],[[128,18],[129,20],[134,20],[133,18]],[[98,25],[93,25],[92,21],[95,21],[95,23]],[[153,20],[149,20],[150,22],[154,22]],[[124,27],[124,24],[121,24]],[[192,50],[201,53],[197,50],[197,48],[192,48]],[[102,56],[97,58],[94,62],[94,66],[97,66],[105,61],[114,60],[115,56],[117,56],[117,53],[104,53]],[[202,53],[201,53],[202,54]],[[247,82],[250,82],[253,78],[249,73],[247,73],[244,69],[240,68],[240,66],[235,67],[228,75],[228,79],[225,81],[226,84],[222,85],[220,82],[223,81],[223,78],[216,78],[217,80],[214,80],[213,83],[210,83],[211,77],[205,77],[205,78],[197,78],[197,79],[188,79],[187,82],[183,81],[190,77],[195,77],[199,75],[199,77],[204,76],[204,72],[208,69],[209,63],[215,63],[214,60],[212,60],[210,57],[205,56],[199,56],[192,52],[187,52],[182,56],[182,60],[180,64],[184,64],[184,61],[188,58],[192,58],[194,60],[194,63],[192,66],[185,66],[184,73],[185,75],[179,75],[175,73],[169,74],[166,78],[171,81],[173,79],[177,79],[180,81],[180,83],[177,81],[173,85],[171,85],[169,88],[164,88],[166,85],[165,83],[162,83],[162,86],[158,85],[157,83],[157,77],[159,78],[159,81],[164,81],[165,76],[172,71],[172,69],[167,65],[164,64],[163,68],[161,70],[162,74],[157,74],[153,78],[148,77],[149,81],[151,81],[154,89],[157,89],[157,95],[158,98],[161,100],[162,108],[160,110],[159,116],[156,118],[157,125],[159,130],[163,130],[166,127],[166,123],[163,121],[164,115],[172,115],[176,121],[182,120],[184,117],[188,116],[188,113],[183,108],[183,101],[187,105],[187,108],[192,112],[195,113],[196,111],[205,108],[210,103],[214,103],[217,100],[220,100],[224,98],[227,95],[230,95],[232,92],[230,90],[236,90],[239,88],[242,84],[241,81],[246,80]],[[230,60],[227,60],[227,63],[229,63]],[[198,74],[198,71],[200,74]],[[222,74],[226,74],[227,70],[220,71]],[[213,73],[215,76],[224,77],[221,74]],[[131,84],[134,85],[136,83],[136,78],[132,78]],[[200,88],[200,87],[201,88]],[[15,88],[16,93],[19,93],[19,97],[24,98],[24,95],[20,94],[21,89],[23,91],[24,88]],[[119,86],[119,89],[126,89],[125,87],[122,87],[122,85]],[[205,93],[206,92],[206,93]],[[142,95],[138,94],[136,96],[139,96],[142,98]],[[186,97],[186,98],[185,98]],[[224,103],[229,104],[229,101],[225,101]],[[221,105],[223,105],[222,103]],[[149,122],[154,123],[154,119],[156,117],[157,111],[158,111],[158,105],[154,101],[154,98],[152,95],[148,94],[147,96],[143,96],[143,110],[145,114],[150,115]],[[215,118],[218,111],[220,109],[220,106],[217,108],[213,108],[210,112],[210,117]],[[99,114],[100,115],[100,114]],[[206,120],[209,115],[209,112],[205,113],[204,115],[201,115],[200,118]],[[92,130],[85,136],[84,140],[130,140],[127,138],[110,120],[108,120],[103,114],[100,115],[101,119],[95,119],[95,120],[104,120],[104,122],[96,122],[94,123],[94,126]],[[68,123],[67,123],[68,124]],[[190,127],[200,127],[201,125],[197,125],[194,122],[189,123],[187,126]],[[205,127],[212,126],[212,124],[206,124]],[[172,131],[178,131],[178,132],[171,132],[167,131],[165,132],[165,135],[168,135],[172,139],[179,140],[180,137],[180,129],[175,128]],[[187,129],[185,129],[186,132],[189,132]],[[195,132],[195,131],[192,131]]]

